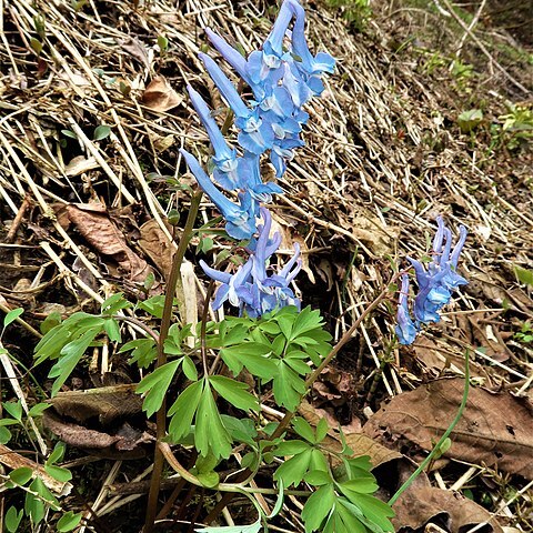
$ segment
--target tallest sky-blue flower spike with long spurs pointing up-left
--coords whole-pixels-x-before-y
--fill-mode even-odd
[[[334,68],[330,54],[312,56],[304,26],[305,12],[299,1],[284,0],[262,49],[253,51],[248,59],[215,32],[205,30],[211,43],[253,94],[252,99],[243,100],[217,62],[204,53],[199,54],[233,112],[239,151],[228,144],[202,97],[191,87],[188,91],[213,145],[212,178],[225,191],[237,191],[237,202],[223,194],[191,153],[184,150],[181,153],[200,187],[224,217],[228,234],[234,239],[251,239],[257,231],[260,203],[268,203],[272,194],[283,192],[275,183],[262,182],[261,154],[270,151],[270,161],[281,178],[294,149],[303,145],[300,132],[309,115],[302,107],[322,93],[321,76]]]

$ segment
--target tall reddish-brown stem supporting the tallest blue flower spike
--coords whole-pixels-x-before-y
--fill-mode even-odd
[[[185,255],[187,247],[191,240],[194,221],[197,220],[198,210],[200,208],[200,201],[202,199],[202,192],[197,192],[191,199],[191,207],[187,217],[185,228],[181,237],[178,250],[172,259],[172,269],[167,280],[167,289],[164,294],[163,315],[161,319],[161,331],[159,333],[158,342],[158,361],[155,368],[162,366],[167,363],[167,354],[164,353],[164,341],[169,334],[170,323],[172,321],[172,305],[174,302],[175,288],[178,281],[181,281],[181,263]],[[157,422],[157,440],[160,442],[167,433],[167,405],[163,399],[161,408],[155,415]],[[159,449],[155,446],[153,456],[153,471],[150,480],[150,492],[148,494],[147,517],[144,522],[144,533],[151,533],[153,531],[153,524],[158,512],[158,499],[159,487],[161,484],[161,473],[163,471],[164,459]]]

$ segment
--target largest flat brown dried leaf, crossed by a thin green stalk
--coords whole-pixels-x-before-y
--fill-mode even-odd
[[[463,395],[461,379],[438,380],[391,400],[363,432],[391,443],[403,436],[431,450],[449,428]],[[466,409],[451,434],[446,456],[533,477],[533,406],[527,399],[471,388]]]

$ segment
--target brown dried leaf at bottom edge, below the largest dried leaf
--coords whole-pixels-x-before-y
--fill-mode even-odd
[[[404,492],[392,509],[396,513],[392,523],[398,532],[426,531],[428,524],[435,523],[451,533],[461,533],[491,519],[491,514],[472,500],[433,486]],[[503,533],[495,521],[480,531]]]

